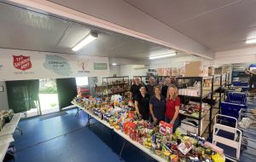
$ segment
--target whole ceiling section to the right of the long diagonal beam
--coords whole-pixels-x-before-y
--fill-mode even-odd
[[[124,0],[213,51],[256,38],[255,0]]]

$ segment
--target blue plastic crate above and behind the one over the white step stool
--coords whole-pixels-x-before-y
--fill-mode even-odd
[[[226,102],[243,104],[245,105],[247,102],[247,95],[241,92],[227,92]]]

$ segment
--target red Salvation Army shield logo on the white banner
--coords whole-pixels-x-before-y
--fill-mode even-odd
[[[26,71],[32,67],[30,56],[24,55],[13,55],[14,56],[14,67]]]

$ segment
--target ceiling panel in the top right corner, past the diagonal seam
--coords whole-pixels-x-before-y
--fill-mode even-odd
[[[255,7],[256,1],[243,1],[173,28],[215,51],[245,48],[248,35],[256,31]]]

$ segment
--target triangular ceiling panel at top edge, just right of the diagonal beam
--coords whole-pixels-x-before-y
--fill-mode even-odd
[[[168,26],[219,9],[237,0],[125,0]]]

